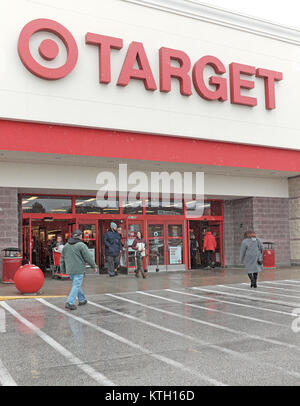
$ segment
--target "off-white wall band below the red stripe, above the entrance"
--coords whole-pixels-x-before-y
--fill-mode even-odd
[[[114,173],[118,179],[118,172],[111,168],[1,162],[0,184],[3,187],[17,187],[19,190],[43,189],[43,193],[47,190],[56,190],[57,193],[60,191],[61,194],[69,193],[70,190],[74,193],[85,190],[96,192],[99,189],[97,175],[105,170]],[[131,172],[128,170],[129,175]],[[150,179],[150,172],[145,173]],[[139,188],[139,191],[148,192],[146,188]],[[204,192],[205,195],[223,198],[288,197],[288,180],[205,174]]]

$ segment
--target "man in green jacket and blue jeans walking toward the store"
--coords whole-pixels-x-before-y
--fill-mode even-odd
[[[82,241],[82,232],[80,230],[76,230],[72,233],[72,237],[64,246],[60,258],[61,272],[67,273],[73,282],[72,289],[66,303],[66,309],[77,309],[75,306],[77,297],[78,306],[85,305],[87,303],[81,288],[86,263],[94,268],[95,273],[98,271],[94,259],[92,258],[87,246]]]

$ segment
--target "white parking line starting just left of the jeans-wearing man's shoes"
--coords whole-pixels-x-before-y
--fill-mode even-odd
[[[161,362],[163,362],[163,363],[165,363],[165,364],[167,364],[167,365],[169,365],[171,367],[177,368],[181,372],[187,372],[187,373],[190,373],[191,375],[197,376],[198,378],[202,379],[205,382],[210,383],[211,385],[227,386],[223,382],[217,381],[216,379],[209,378],[209,377],[207,377],[207,376],[205,376],[203,374],[200,374],[199,372],[184,366],[180,362],[174,361],[174,360],[172,360],[170,358],[167,358],[167,357],[165,357],[163,355],[154,354],[152,351],[146,350],[145,348],[143,348],[140,345],[134,343],[133,341],[127,340],[126,338],[121,337],[118,334],[113,333],[112,331],[109,331],[109,330],[106,330],[106,329],[104,329],[102,327],[96,326],[95,324],[90,323],[89,321],[87,321],[87,320],[85,320],[85,319],[83,319],[81,317],[78,317],[78,316],[75,316],[75,315],[73,315],[73,314],[71,314],[69,312],[66,312],[65,310],[61,309],[60,307],[57,307],[57,306],[53,305],[52,303],[49,303],[48,301],[46,301],[44,299],[36,299],[36,300],[43,303],[45,306],[48,306],[48,307],[56,310],[57,312],[60,312],[60,313],[62,313],[64,315],[66,315],[67,317],[70,317],[70,318],[78,321],[79,323],[85,324],[86,326],[91,327],[94,330],[97,330],[100,333],[102,333],[102,334],[104,334],[104,335],[106,335],[106,336],[108,336],[110,338],[113,338],[114,340],[117,340],[117,341],[119,341],[119,342],[121,342],[123,344],[128,345],[131,348],[134,348],[134,349],[142,352],[143,354],[148,355],[149,357],[152,357],[152,358],[154,358],[154,359],[156,359],[158,361],[161,361]]]

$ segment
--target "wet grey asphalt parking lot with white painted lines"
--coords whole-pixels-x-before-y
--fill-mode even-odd
[[[300,280],[0,302],[0,383],[300,383]]]

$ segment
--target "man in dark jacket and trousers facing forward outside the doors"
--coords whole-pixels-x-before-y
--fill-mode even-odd
[[[122,241],[121,235],[117,232],[117,225],[115,223],[110,223],[110,229],[104,234],[103,244],[105,246],[109,276],[116,276],[117,272],[115,269],[117,269],[120,264]]]

